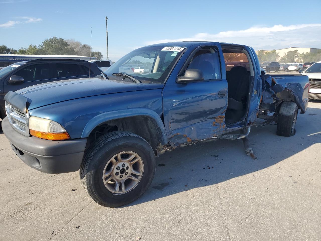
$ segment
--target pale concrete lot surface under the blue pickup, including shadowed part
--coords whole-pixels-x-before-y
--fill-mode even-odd
[[[0,134],[0,240],[320,240],[320,117],[311,102],[293,137],[252,128],[256,161],[240,140],[166,153],[143,197],[117,209],[92,201],[78,172],[23,164]]]

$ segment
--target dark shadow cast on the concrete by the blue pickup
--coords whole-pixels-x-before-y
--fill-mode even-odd
[[[242,140],[199,143],[167,152],[156,159],[150,188],[126,206],[221,183],[281,162],[321,142],[320,116],[321,109],[308,108],[304,115],[298,116],[293,137],[277,136],[276,125],[252,127],[249,140],[258,160],[245,154]]]

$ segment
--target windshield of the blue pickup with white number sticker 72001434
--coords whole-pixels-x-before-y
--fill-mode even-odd
[[[176,60],[184,52],[182,47],[149,46],[136,49],[105,71],[109,79],[123,79],[113,76],[115,73],[125,73],[134,76],[143,83],[163,83]],[[123,79],[130,81],[129,79]],[[132,81],[130,81],[132,82]]]

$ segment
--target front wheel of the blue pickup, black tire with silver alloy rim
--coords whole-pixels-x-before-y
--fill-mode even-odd
[[[86,151],[80,178],[95,202],[115,208],[142,196],[155,170],[155,154],[146,140],[131,132],[114,131]]]

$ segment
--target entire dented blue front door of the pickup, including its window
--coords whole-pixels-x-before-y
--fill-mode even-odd
[[[178,71],[175,68],[162,92],[165,129],[173,146],[188,145],[225,131],[228,85],[221,46],[216,43],[191,51],[184,53],[181,60],[187,61]],[[178,75],[190,68],[202,71],[204,80],[177,83]]]

